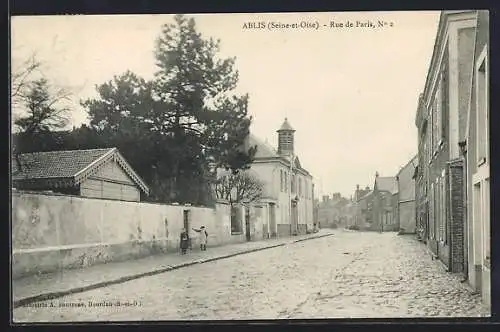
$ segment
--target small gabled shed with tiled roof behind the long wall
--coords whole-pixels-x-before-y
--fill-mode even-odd
[[[150,192],[117,148],[19,154],[12,160],[12,187],[123,201]]]

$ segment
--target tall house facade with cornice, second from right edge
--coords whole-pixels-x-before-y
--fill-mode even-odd
[[[467,131],[477,11],[441,13],[416,116],[418,236],[451,272],[466,274],[466,177],[460,141]]]

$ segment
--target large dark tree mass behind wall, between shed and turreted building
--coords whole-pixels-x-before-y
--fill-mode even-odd
[[[207,203],[207,161],[234,174],[248,168],[244,149],[251,118],[248,96],[232,91],[234,58],[216,58],[219,42],[204,40],[182,15],[157,39],[158,70],[146,81],[126,72],[84,101],[101,145],[114,145],[153,189],[155,200]]]

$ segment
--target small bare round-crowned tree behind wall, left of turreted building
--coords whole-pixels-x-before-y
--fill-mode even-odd
[[[221,176],[215,184],[217,198],[233,203],[251,203],[262,197],[264,185],[248,172],[229,173]]]

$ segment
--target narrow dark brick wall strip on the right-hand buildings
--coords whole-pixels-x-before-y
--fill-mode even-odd
[[[464,271],[464,208],[463,208],[463,161],[457,160],[449,166],[450,217],[450,270]]]

